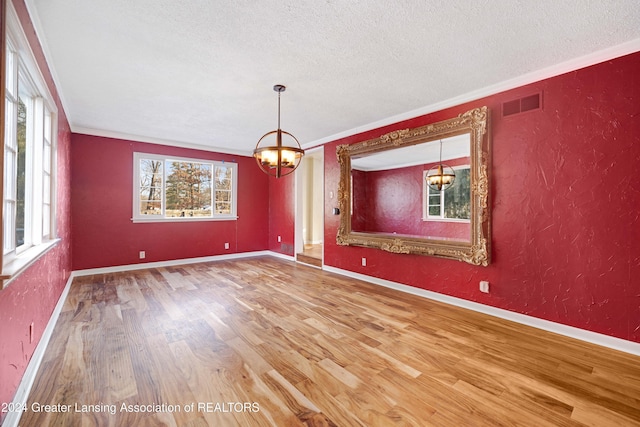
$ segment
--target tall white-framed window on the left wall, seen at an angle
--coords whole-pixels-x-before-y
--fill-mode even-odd
[[[2,278],[10,279],[55,240],[57,110],[11,3],[5,49]]]

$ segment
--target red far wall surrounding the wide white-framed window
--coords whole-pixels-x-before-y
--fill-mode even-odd
[[[269,183],[252,157],[79,134],[72,146],[74,270],[267,249]],[[238,220],[134,224],[134,152],[237,163]]]

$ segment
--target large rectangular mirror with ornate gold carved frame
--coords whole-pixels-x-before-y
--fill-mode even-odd
[[[489,264],[487,107],[340,145],[336,152],[339,245]],[[444,163],[455,178],[437,191],[425,178]]]

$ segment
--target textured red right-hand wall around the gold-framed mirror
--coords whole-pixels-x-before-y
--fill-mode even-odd
[[[635,53],[325,145],[325,264],[640,342],[638,76]],[[501,117],[503,102],[538,91],[542,111]],[[336,245],[337,145],[483,105],[493,150],[488,267]]]

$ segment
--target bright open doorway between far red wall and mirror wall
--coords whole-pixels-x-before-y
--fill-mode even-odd
[[[322,268],[324,148],[309,150],[296,173],[296,261]]]

